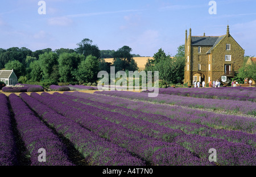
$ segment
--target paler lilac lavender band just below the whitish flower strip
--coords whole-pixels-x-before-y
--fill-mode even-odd
[[[102,108],[106,110],[110,109],[109,104],[111,104],[113,107],[112,109],[110,109],[110,111],[114,110],[119,113],[122,113],[123,115],[133,116],[135,113],[130,111],[130,109],[133,109],[135,111],[156,114],[154,115],[155,117],[158,117],[158,115],[163,115],[173,120],[203,124],[212,128],[221,127],[228,130],[240,130],[241,132],[244,132],[244,133],[256,132],[256,126],[255,126],[256,120],[252,117],[221,115],[213,112],[182,108],[179,106],[170,107],[168,105],[163,105],[163,104],[134,102],[133,100],[127,100],[127,99],[122,99],[122,98],[117,98],[117,97],[107,96],[107,95],[99,95],[99,94],[97,94],[97,96],[96,94],[86,94],[81,92],[72,92],[72,93],[64,92],[64,94],[73,95],[79,98],[84,98],[88,100],[87,101],[88,104],[92,104],[92,106],[96,106],[96,107],[100,107],[101,105],[100,103],[107,103],[108,107],[102,104]],[[127,92],[127,94],[130,94],[130,92]],[[91,100],[91,102],[89,100]],[[96,101],[96,103],[92,102],[93,100]],[[129,108],[129,109],[125,109],[125,108]],[[132,112],[132,113],[129,113],[129,112]],[[141,115],[138,114],[137,116],[141,116]],[[153,122],[156,120],[158,119],[156,118],[152,119]],[[159,124],[162,124],[161,121],[159,122]],[[248,140],[246,140],[246,142],[247,141]]]

